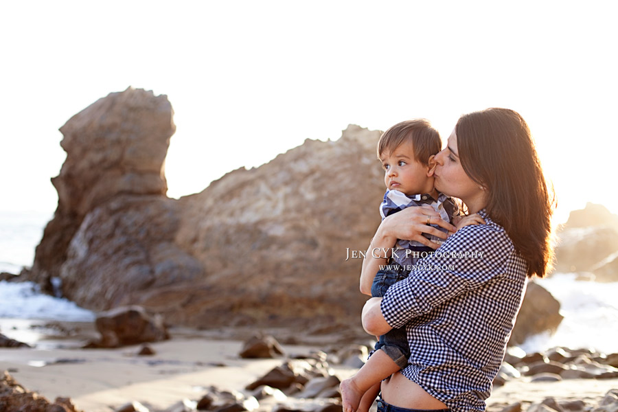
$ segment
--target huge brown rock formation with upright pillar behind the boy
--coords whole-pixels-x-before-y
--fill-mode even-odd
[[[307,140],[175,201],[165,196],[165,96],[112,93],[60,130],[58,209],[25,277],[61,280],[85,308],[139,305],[172,325],[360,330],[361,259],[346,258],[380,222],[380,132]]]

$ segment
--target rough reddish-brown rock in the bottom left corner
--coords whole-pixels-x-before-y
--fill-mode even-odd
[[[0,411],[78,412],[69,398],[49,402],[44,396],[19,385],[8,372],[0,377]]]

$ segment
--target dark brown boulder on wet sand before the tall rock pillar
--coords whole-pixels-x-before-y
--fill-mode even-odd
[[[101,340],[90,347],[119,347],[170,339],[163,319],[150,316],[140,306],[121,307],[98,314],[95,321]]]

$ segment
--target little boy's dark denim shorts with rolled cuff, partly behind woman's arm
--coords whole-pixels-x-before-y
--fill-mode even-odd
[[[394,270],[378,271],[371,284],[372,297],[384,297],[389,286],[408,277],[408,272],[399,266]],[[375,350],[381,349],[395,362],[401,369],[408,365],[410,357],[410,345],[406,328],[392,329],[387,334],[380,336],[380,340],[374,347]]]

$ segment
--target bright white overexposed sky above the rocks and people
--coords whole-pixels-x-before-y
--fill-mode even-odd
[[[529,123],[561,220],[586,201],[618,212],[615,4],[3,2],[0,210],[52,213],[58,128],[131,85],[174,107],[172,197],[347,124],[427,117],[446,140],[503,106]]]

